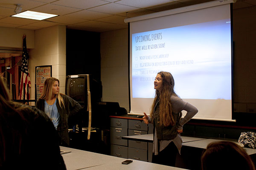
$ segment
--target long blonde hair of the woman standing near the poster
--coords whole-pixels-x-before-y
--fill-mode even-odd
[[[42,93],[42,95],[40,96],[39,99],[44,99],[44,100],[48,100],[48,101],[51,100],[52,85],[55,81],[57,81],[58,84],[60,85],[60,81],[58,79],[54,78],[54,77],[49,77],[44,81],[43,93]],[[61,97],[60,92],[58,92],[58,94],[56,94],[55,97],[58,99],[58,103],[59,103],[60,107],[61,107],[61,104],[62,104],[63,107],[65,108],[64,101],[63,101],[63,98]]]

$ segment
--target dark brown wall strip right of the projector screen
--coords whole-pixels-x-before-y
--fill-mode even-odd
[[[256,6],[233,9],[234,109],[256,113]]]

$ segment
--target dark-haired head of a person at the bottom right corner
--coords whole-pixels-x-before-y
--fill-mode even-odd
[[[244,148],[228,141],[208,144],[201,156],[201,165],[202,170],[255,170]]]

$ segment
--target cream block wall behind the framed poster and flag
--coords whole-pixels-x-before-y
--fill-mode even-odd
[[[52,65],[52,77],[60,80],[60,92],[65,93],[66,26],[52,26],[38,30],[0,27],[0,47],[22,50],[23,34],[29,50],[30,99],[35,99],[35,66]],[[31,102],[30,105],[34,105]]]

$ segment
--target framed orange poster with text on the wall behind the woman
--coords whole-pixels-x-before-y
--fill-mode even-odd
[[[43,93],[44,81],[52,77],[52,65],[42,65],[35,67],[36,100]]]

